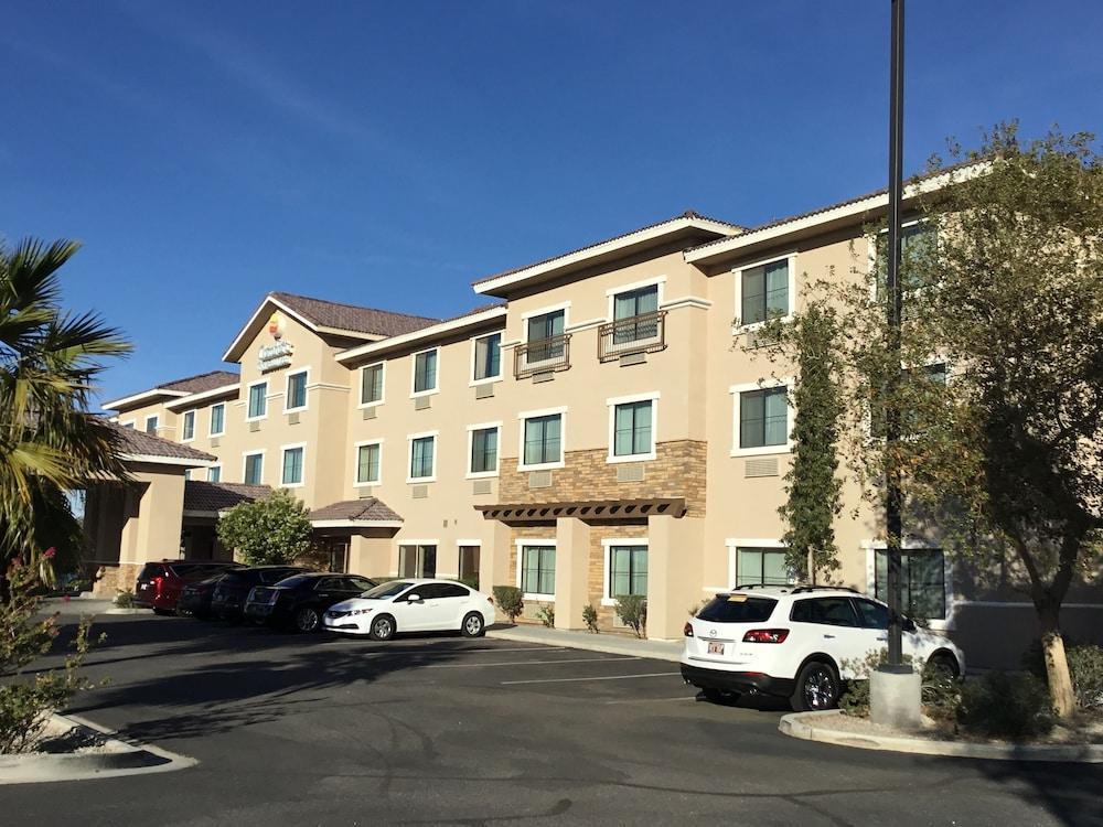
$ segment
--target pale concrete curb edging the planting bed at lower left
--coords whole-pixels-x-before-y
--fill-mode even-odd
[[[138,744],[116,738],[118,733],[76,716],[54,715],[54,720],[83,727],[107,735],[106,743],[116,752],[88,754],[0,755],[0,785],[38,784],[51,781],[115,778],[184,770],[199,763],[159,747]]]

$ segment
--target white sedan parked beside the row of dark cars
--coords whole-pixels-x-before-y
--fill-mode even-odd
[[[331,605],[322,622],[328,632],[376,641],[389,641],[396,632],[456,630],[481,637],[494,623],[494,599],[454,580],[400,578]]]

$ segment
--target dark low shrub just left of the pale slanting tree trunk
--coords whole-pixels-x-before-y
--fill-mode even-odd
[[[1053,728],[1053,708],[1046,684],[1034,675],[989,672],[963,685],[957,720],[989,738],[1032,738]]]

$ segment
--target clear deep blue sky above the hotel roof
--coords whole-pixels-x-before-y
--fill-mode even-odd
[[[13,2],[0,235],[81,239],[66,302],[221,366],[268,290],[447,316],[470,282],[686,208],[885,185],[888,0]],[[907,170],[1103,115],[1096,0],[912,0]]]

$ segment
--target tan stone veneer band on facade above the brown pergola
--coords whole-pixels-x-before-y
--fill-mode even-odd
[[[688,517],[705,516],[705,442],[660,442],[656,459],[639,463],[607,462],[604,449],[567,451],[565,465],[550,472],[552,485],[528,487],[528,471],[517,471],[517,458],[502,459],[501,503],[561,503],[570,501],[685,497]],[[617,470],[643,465],[642,482],[617,482]],[[554,533],[553,533],[554,534]]]

